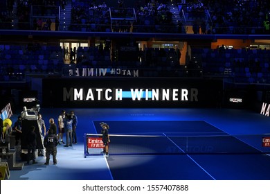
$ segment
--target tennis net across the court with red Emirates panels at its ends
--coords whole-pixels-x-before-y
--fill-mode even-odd
[[[110,155],[268,154],[270,134],[109,134]],[[84,153],[102,154],[102,134],[84,134]]]

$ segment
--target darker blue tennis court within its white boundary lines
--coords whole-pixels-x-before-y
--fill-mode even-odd
[[[248,142],[260,147],[263,135],[232,136],[205,121],[105,123],[114,179],[269,179],[269,152]]]

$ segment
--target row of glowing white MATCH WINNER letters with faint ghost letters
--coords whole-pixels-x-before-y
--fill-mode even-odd
[[[198,89],[130,89],[123,91],[123,89],[83,89],[83,88],[63,88],[63,100],[67,101],[109,101],[109,100],[123,100],[124,98],[131,98],[134,100],[172,100],[172,101],[198,101]]]

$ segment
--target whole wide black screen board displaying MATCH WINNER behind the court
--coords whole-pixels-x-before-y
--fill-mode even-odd
[[[43,80],[43,105],[54,107],[211,107],[219,80],[62,78]],[[49,95],[51,96],[49,96]]]

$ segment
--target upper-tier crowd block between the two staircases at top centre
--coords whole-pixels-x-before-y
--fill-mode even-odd
[[[118,8],[110,13],[109,6],[104,2],[96,5],[95,1],[75,1],[72,4],[71,30],[163,33],[172,30],[164,28],[173,26],[172,12],[164,1],[151,0],[143,6],[125,10],[122,9],[125,4],[118,3]],[[119,19],[111,19],[110,14],[111,17],[117,14]]]

